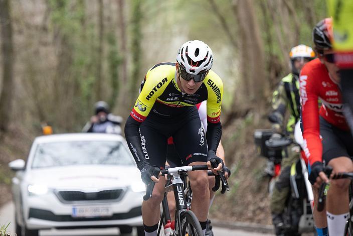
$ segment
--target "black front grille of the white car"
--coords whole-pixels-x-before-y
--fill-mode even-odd
[[[104,190],[100,192],[59,191],[59,198],[66,202],[117,200],[123,194],[123,189]]]

